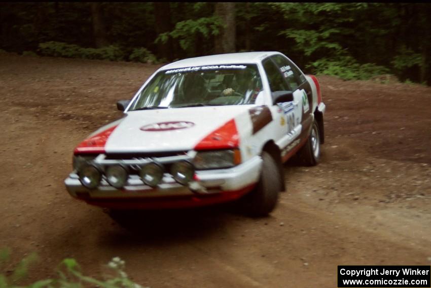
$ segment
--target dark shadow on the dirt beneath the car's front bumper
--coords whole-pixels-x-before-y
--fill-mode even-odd
[[[226,226],[245,216],[230,205],[184,210],[121,211],[110,213],[118,229],[105,231],[105,245],[169,245],[223,237]]]

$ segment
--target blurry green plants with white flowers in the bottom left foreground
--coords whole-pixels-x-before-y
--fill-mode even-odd
[[[9,250],[0,250],[0,268],[2,264],[9,261]],[[107,268],[111,273],[105,279],[96,279],[86,276],[81,272],[81,267],[75,259],[64,259],[57,268],[57,277],[52,279],[42,279],[28,285],[19,285],[28,274],[28,267],[37,260],[35,253],[32,253],[21,260],[13,269],[10,276],[0,273],[0,288],[82,288],[96,286],[102,288],[143,288],[133,282],[126,272],[125,263],[118,257],[113,258]],[[0,270],[1,271],[1,270]]]

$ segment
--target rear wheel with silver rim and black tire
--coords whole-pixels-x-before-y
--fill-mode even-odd
[[[298,151],[300,162],[305,166],[315,166],[320,159],[319,125],[314,120],[305,145]]]

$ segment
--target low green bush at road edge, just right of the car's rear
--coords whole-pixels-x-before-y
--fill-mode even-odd
[[[373,63],[360,64],[351,56],[321,58],[309,65],[316,74],[340,77],[344,80],[367,80],[373,76],[387,74],[389,70]]]

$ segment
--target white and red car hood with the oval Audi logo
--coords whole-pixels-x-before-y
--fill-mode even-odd
[[[187,151],[195,149],[211,136],[211,133],[220,131],[223,127],[224,134],[217,134],[217,137],[226,139],[219,139],[220,143],[226,144],[226,141],[230,141],[228,143],[234,146],[239,137],[234,119],[241,114],[248,114],[248,110],[253,106],[129,111],[127,116],[102,127],[86,140],[87,143],[84,141],[78,147],[85,149],[95,143],[99,148],[103,145],[106,153]],[[95,141],[90,143],[91,139]],[[208,148],[207,146],[204,148]]]

